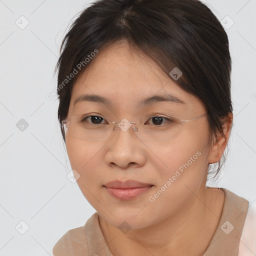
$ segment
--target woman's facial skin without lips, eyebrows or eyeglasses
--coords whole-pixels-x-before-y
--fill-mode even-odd
[[[93,112],[104,118],[102,122],[134,121],[135,116],[152,113],[186,120],[206,113],[198,98],[178,87],[146,55],[130,51],[125,42],[99,51],[91,61],[73,86],[67,119]],[[142,104],[147,97],[167,93],[183,103]],[[83,94],[105,97],[109,104],[85,100],[74,104]],[[80,175],[77,183],[83,195],[116,227],[126,221],[131,229],[138,229],[179,214],[205,187],[210,154],[206,116],[183,124],[177,137],[162,141],[142,140],[132,128],[123,131],[119,126],[108,138],[94,141],[75,138],[67,131],[67,153],[72,169]],[[152,186],[133,198],[116,198],[104,186],[113,180]]]

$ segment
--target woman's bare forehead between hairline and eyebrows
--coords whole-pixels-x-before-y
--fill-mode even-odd
[[[109,99],[112,107],[132,107],[130,102],[133,106],[136,102],[135,106],[138,106],[139,102],[145,103],[145,98],[164,94],[171,95],[173,103],[177,104],[175,99],[183,101],[182,107],[197,100],[181,89],[152,59],[131,49],[126,42],[111,44],[90,61],[73,85],[71,107],[84,94],[101,95]]]

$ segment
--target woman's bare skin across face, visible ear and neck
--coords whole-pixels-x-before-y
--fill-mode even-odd
[[[145,97],[166,92],[185,103],[139,105]],[[74,105],[75,99],[85,93],[105,96],[111,105],[89,101]],[[95,112],[110,120],[125,117],[132,121],[135,114],[150,114],[152,110],[183,119],[207,112],[200,99],[178,87],[148,56],[119,41],[99,51],[78,77],[67,119],[73,114]],[[77,183],[99,213],[100,228],[114,256],[192,256],[205,251],[224,202],[223,191],[205,188],[207,166],[221,158],[231,121],[230,115],[224,126],[226,138],[219,135],[212,143],[207,115],[183,124],[177,137],[164,141],[141,140],[132,129],[123,132],[118,126],[109,138],[98,141],[80,140],[66,133],[70,164],[80,174]],[[201,155],[150,202],[149,196],[197,151]],[[131,200],[120,200],[103,187],[114,179],[134,179],[154,186]],[[130,225],[127,233],[118,229],[123,221]]]

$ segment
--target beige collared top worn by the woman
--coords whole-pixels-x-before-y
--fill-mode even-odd
[[[203,256],[247,256],[248,254],[239,251],[239,246],[248,211],[248,201],[225,188],[218,189],[225,193],[223,210],[216,231]],[[255,218],[253,223],[254,221]],[[255,229],[253,233],[256,234]],[[256,242],[256,239],[252,242],[254,241]],[[251,252],[253,249],[254,247]],[[97,212],[91,215],[84,226],[68,230],[56,242],[52,252],[54,256],[113,256],[100,229]],[[256,255],[256,251],[254,253],[250,255]]]

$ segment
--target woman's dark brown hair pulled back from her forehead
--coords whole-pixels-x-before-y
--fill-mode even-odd
[[[231,58],[227,34],[211,10],[199,0],[97,0],[81,11],[60,46],[55,71],[64,141],[61,121],[67,116],[75,80],[91,63],[85,58],[122,39],[149,56],[166,75],[178,67],[182,76],[175,83],[205,104],[211,135],[225,136],[222,125],[232,113]],[[74,70],[77,74],[67,82]]]

